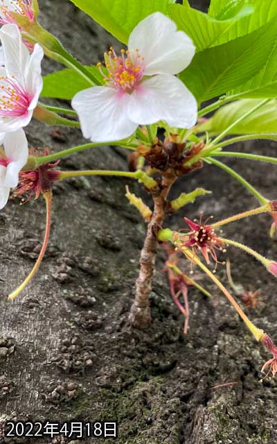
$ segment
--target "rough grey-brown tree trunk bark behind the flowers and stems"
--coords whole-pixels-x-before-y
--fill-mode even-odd
[[[42,24],[84,62],[96,62],[114,43],[69,1],[40,3]],[[46,62],[46,71],[51,66]],[[32,123],[30,144],[62,149],[82,142],[79,131],[62,130],[60,142],[52,131]],[[235,148],[276,155],[276,147],[258,142]],[[87,151],[62,167],[77,167],[76,159],[78,168],[127,168],[122,151],[114,148]],[[228,163],[265,196],[276,198],[276,167]],[[136,187],[116,178],[55,186],[48,253],[35,280],[14,302],[6,295],[37,257],[44,202],[19,206],[14,200],[1,212],[0,418],[114,418],[121,444],[275,444],[276,379],[259,382],[269,355],[208,280],[202,284],[213,293],[211,300],[189,292],[190,327],[184,336],[161,253],[150,301],[152,324],[143,332],[130,327],[145,225],[125,200],[126,183]],[[168,218],[170,228],[181,228],[182,216],[195,217],[200,210],[220,219],[256,206],[240,185],[212,166],[179,180],[172,197],[195,187],[206,187],[213,196]],[[233,223],[226,234],[277,257],[277,244],[268,237],[270,223],[269,216],[258,216]],[[276,341],[276,281],[251,257],[231,249],[228,254],[235,282],[262,290],[265,300],[249,315]],[[218,274],[226,282],[223,267]],[[224,382],[235,384],[213,388]]]

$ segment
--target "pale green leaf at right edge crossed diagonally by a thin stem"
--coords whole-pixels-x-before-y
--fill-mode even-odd
[[[220,134],[234,121],[242,117],[251,108],[258,105],[258,99],[238,100],[225,105],[215,112],[213,117],[199,129]],[[271,100],[253,112],[249,117],[232,128],[229,134],[277,133],[277,100]]]

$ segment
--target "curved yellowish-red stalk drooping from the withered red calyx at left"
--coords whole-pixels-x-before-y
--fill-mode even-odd
[[[8,296],[9,300],[15,299],[19,293],[21,293],[22,290],[28,285],[30,280],[33,278],[35,273],[37,272],[39,265],[42,262],[42,259],[44,257],[44,254],[46,252],[46,248],[48,245],[49,240],[49,234],[50,234],[50,228],[51,228],[51,203],[52,203],[52,194],[51,191],[46,191],[44,194],[44,199],[46,202],[46,228],[45,228],[45,234],[44,234],[44,243],[42,244],[42,250],[40,250],[39,257],[37,258],[37,262],[35,263],[35,266],[33,267],[33,270],[30,272],[30,274],[27,276],[27,278],[22,282],[19,287],[10,293],[10,296]]]

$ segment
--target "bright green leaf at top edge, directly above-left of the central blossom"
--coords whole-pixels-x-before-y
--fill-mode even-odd
[[[152,12],[168,13],[175,0],[70,0],[120,42],[127,43],[134,27]]]

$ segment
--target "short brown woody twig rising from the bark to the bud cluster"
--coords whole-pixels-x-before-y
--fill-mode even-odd
[[[149,296],[152,289],[152,280],[155,273],[155,262],[158,241],[155,232],[161,227],[166,217],[166,199],[176,176],[169,172],[163,176],[161,191],[152,194],[154,200],[154,211],[146,233],[143,249],[141,250],[139,277],[136,280],[136,296],[129,314],[129,321],[139,329],[148,327],[151,322],[149,307]]]

